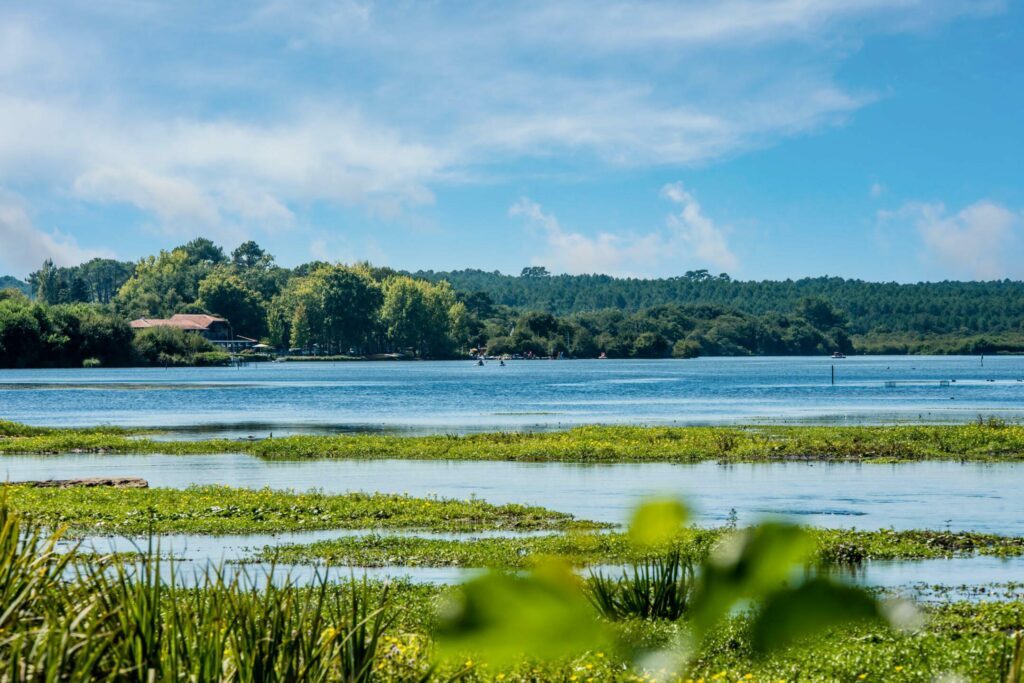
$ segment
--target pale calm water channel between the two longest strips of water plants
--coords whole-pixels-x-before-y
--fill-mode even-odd
[[[741,523],[779,515],[857,528],[952,528],[1024,535],[1024,463],[771,463],[575,465],[451,461],[262,461],[217,456],[5,456],[8,481],[141,476],[153,486],[191,483],[471,496],[524,503],[612,523],[644,498],[681,496],[705,523],[735,509]]]

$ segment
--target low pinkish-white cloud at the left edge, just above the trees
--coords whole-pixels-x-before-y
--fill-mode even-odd
[[[32,224],[22,204],[0,196],[0,267],[20,276],[35,270],[46,259],[57,265],[75,265],[96,256],[112,256],[106,250],[83,249],[75,239],[57,230],[45,232]]]

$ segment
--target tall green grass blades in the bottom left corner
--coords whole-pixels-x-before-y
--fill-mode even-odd
[[[77,563],[58,539],[0,501],[4,683],[375,680],[393,622],[387,588],[352,580],[339,591],[324,575],[299,590],[222,568],[183,588],[153,548],[136,564]]]

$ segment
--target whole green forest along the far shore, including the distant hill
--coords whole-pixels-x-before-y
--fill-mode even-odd
[[[137,317],[210,313],[298,357],[470,354],[696,357],[1024,352],[1024,284],[899,285],[838,278],[738,282],[369,263],[278,265],[255,242],[199,238],[137,263],[47,261],[0,288],[0,367],[216,365],[227,354]]]

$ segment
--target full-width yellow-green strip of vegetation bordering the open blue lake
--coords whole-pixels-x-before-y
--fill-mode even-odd
[[[297,435],[261,440],[157,440],[125,429],[50,429],[0,422],[0,454],[248,453],[267,459],[691,463],[1024,459],[1024,425],[577,427],[439,436]]]

